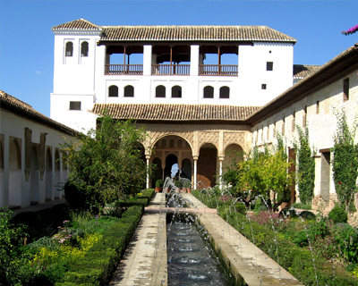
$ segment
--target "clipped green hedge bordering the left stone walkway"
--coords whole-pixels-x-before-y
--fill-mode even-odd
[[[64,282],[57,282],[55,286],[107,285],[115,272],[115,266],[132,239],[142,214],[142,206],[128,208],[122,219],[103,233],[102,240],[90,248],[84,257],[69,265],[68,272],[64,274]]]

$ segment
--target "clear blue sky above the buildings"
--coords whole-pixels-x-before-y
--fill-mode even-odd
[[[358,1],[0,0],[0,89],[49,116],[51,27],[84,18],[98,25],[263,25],[297,39],[294,63],[323,64],[358,42]]]

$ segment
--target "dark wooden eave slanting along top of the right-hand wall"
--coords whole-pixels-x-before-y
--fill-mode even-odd
[[[246,121],[251,126],[266,120],[268,117],[285,109],[304,97],[310,96],[320,88],[327,87],[337,79],[358,68],[358,43],[337,55],[334,59],[322,65],[320,70],[311,73],[305,79],[288,88],[283,94],[270,101],[254,112]]]

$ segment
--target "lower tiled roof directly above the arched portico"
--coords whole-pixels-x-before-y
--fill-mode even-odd
[[[260,107],[183,104],[95,104],[92,112],[115,119],[160,122],[239,122]]]

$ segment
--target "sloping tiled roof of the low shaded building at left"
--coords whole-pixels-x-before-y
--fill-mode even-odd
[[[60,130],[69,135],[73,136],[78,133],[78,131],[72,130],[70,127],[59,122],[55,122],[51,118],[48,118],[46,115],[39,113],[37,110],[33,109],[31,105],[24,103],[16,97],[10,96],[3,90],[0,90],[0,106],[1,108],[9,110],[15,114],[19,114],[35,122],[41,122],[55,130]]]

